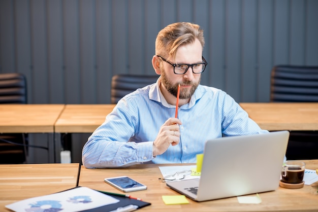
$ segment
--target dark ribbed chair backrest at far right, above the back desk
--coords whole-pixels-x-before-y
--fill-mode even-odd
[[[318,102],[318,66],[274,66],[270,101]]]

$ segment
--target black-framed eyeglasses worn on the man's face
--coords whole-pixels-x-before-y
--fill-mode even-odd
[[[207,66],[207,61],[204,59],[204,57],[202,56],[202,60],[203,62],[199,62],[199,63],[194,63],[194,64],[173,64],[172,62],[168,61],[166,58],[160,56],[160,55],[156,55],[157,57],[160,57],[161,59],[163,59],[163,61],[169,63],[170,65],[173,66],[173,72],[176,75],[183,75],[187,72],[187,70],[189,69],[189,67],[192,68],[192,72],[194,74],[200,74],[202,72],[204,72],[205,67]]]

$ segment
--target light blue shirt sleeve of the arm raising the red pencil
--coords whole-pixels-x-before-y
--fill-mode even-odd
[[[86,168],[126,167],[152,160],[152,141],[129,142],[139,119],[136,111],[124,101],[118,102],[83,147],[82,162]]]

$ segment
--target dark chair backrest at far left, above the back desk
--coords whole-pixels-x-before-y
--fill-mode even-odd
[[[19,73],[0,74],[0,103],[26,104],[26,79]]]

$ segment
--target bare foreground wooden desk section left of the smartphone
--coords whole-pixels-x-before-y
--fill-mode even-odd
[[[78,163],[0,165],[0,210],[19,200],[74,188],[78,168]]]

